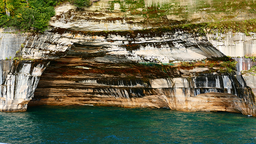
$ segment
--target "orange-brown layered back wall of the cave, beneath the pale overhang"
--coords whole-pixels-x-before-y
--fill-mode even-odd
[[[241,76],[200,74],[211,68],[82,61],[65,57],[50,64],[29,105],[165,107],[255,116],[254,95]]]

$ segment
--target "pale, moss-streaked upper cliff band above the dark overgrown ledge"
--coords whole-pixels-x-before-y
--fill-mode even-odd
[[[247,20],[256,18],[255,12],[248,11],[248,8],[252,9],[250,7],[247,7],[247,9],[241,7],[237,11],[232,11],[232,8],[228,9],[227,6],[211,0],[190,2],[183,0],[145,0],[143,2],[145,2],[145,5],[139,5],[140,7],[133,11],[129,7],[134,7],[134,5],[122,0],[120,2],[101,0],[93,3],[89,8],[78,8],[65,3],[55,8],[56,15],[52,17],[50,26],[76,31],[111,31],[154,28],[156,25],[175,25],[190,21],[201,23],[212,22],[216,19]],[[240,2],[237,1],[236,7],[240,6]],[[226,4],[228,3],[233,4],[232,1],[227,1]],[[205,8],[206,5],[212,7]],[[166,12],[166,16],[156,16],[157,20],[148,20],[142,13],[151,6],[159,6],[158,9]],[[164,9],[161,9],[163,7]],[[221,10],[220,8],[220,11],[218,11],[214,7],[223,7],[227,10]],[[133,12],[135,14],[132,14]],[[150,14],[149,12],[147,15]],[[160,15],[160,12],[157,14]]]

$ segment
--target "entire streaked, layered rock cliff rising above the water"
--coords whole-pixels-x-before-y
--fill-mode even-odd
[[[255,33],[205,35],[180,26],[212,21],[212,14],[214,20],[255,18],[253,8],[223,11],[217,1],[205,1],[219,8],[205,11],[199,2],[135,2],[103,0],[90,8],[66,3],[56,7],[43,33],[2,29],[1,111],[41,104],[100,105],[256,116],[252,83],[222,66],[225,55],[252,56]],[[240,50],[239,55],[230,49]],[[4,60],[8,56],[15,58]],[[239,62],[237,69],[245,64]]]

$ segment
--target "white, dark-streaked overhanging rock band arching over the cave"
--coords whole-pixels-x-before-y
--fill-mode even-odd
[[[137,36],[134,39],[113,34],[108,36],[74,35],[69,31],[62,34],[45,32],[45,34],[28,38],[29,40],[25,41],[25,47],[20,50],[19,54],[24,58],[33,59],[57,59],[56,56],[62,56],[62,53],[67,52],[72,44],[100,47],[93,53],[106,52],[108,57],[95,58],[94,60],[98,62],[118,62],[118,59],[113,60],[113,57],[117,56],[124,56],[127,61],[162,63],[170,63],[170,60],[191,61],[224,56],[212,47],[205,36],[188,34],[183,31],[165,33],[162,37]],[[136,45],[137,48],[129,50],[129,46],[125,47],[125,45]]]

